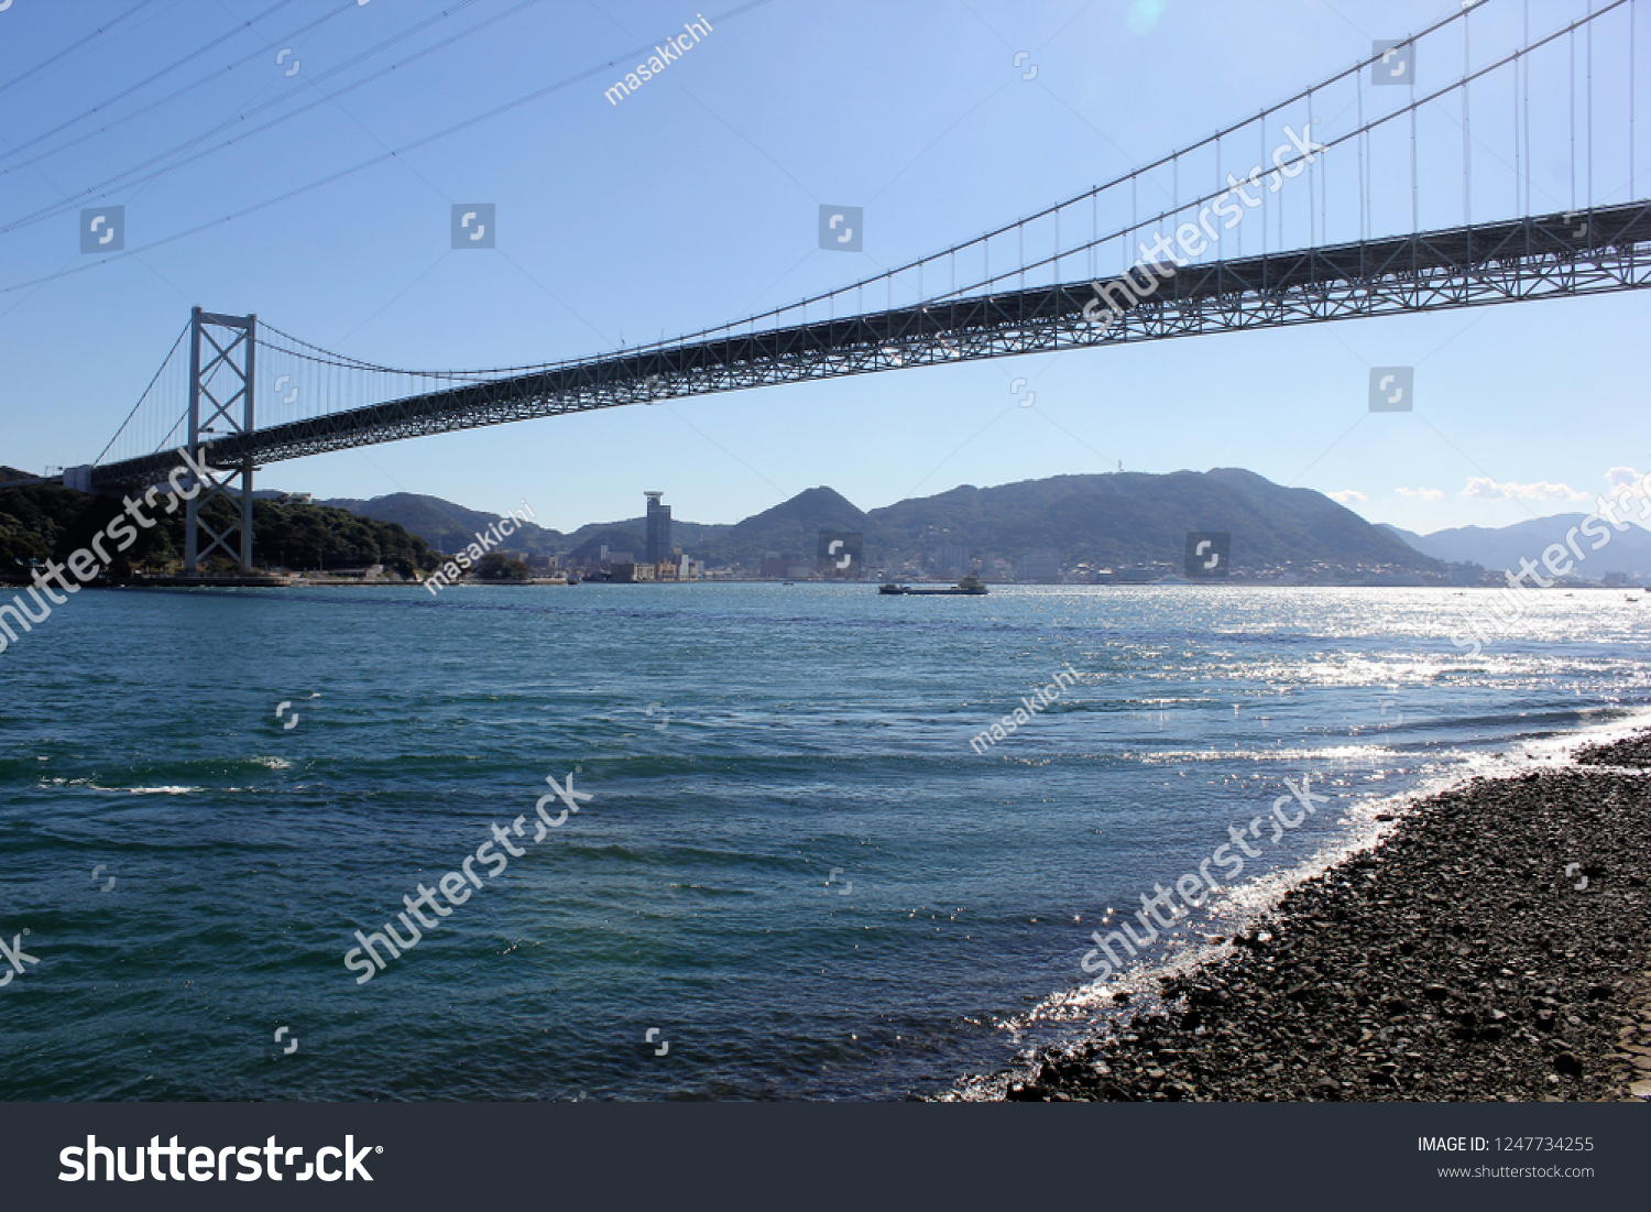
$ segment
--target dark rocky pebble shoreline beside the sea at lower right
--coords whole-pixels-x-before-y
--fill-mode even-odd
[[[1651,1098],[1651,733],[1573,760],[1423,801],[1002,1096]]]

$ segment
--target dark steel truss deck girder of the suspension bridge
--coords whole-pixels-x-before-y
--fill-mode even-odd
[[[236,434],[216,443],[213,457],[243,461],[249,485],[254,462],[660,398],[1213,332],[1633,291],[1651,286],[1648,244],[1651,203],[1641,201],[1180,266],[1157,279],[1149,294],[1138,287],[1142,297],[1109,325],[1085,319],[1085,307],[1096,299],[1091,282],[934,301],[608,355],[391,400]],[[1147,279],[1138,272],[1133,281]],[[1113,291],[1113,297],[1121,296]],[[154,482],[170,466],[167,454],[129,459],[94,467],[92,481]]]

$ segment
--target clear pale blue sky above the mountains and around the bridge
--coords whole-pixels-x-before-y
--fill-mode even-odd
[[[163,167],[172,149],[221,124],[201,149],[320,104],[99,198],[125,206],[129,249],[206,225],[195,234],[102,263],[79,253],[79,203],[0,234],[0,462],[31,471],[102,449],[192,304],[258,312],[317,345],[413,368],[548,362],[657,340],[977,236],[1255,114],[1369,56],[1372,40],[1402,38],[1459,7],[769,0],[721,17],[738,3],[289,0],[246,28],[276,0],[149,0],[116,20],[135,2],[12,0],[0,10],[0,170],[10,170],[0,225],[152,157]],[[1532,30],[1585,7],[1537,0]],[[700,45],[621,104],[604,97],[639,61],[629,51],[700,17],[713,23]],[[1512,36],[1522,20],[1522,0],[1486,0],[1473,15],[1476,45]],[[342,68],[421,21],[431,25]],[[1600,203],[1630,196],[1625,21],[1615,30],[1593,48]],[[1633,193],[1644,196],[1644,15],[1636,38]],[[619,56],[497,117],[263,205]],[[1445,83],[1441,58],[1423,59],[1418,76],[1431,66]],[[400,66],[338,92],[390,64]],[[1542,88],[1535,121],[1555,135],[1567,102],[1550,81]],[[1491,145],[1504,94],[1491,86],[1474,97],[1488,144],[1476,159],[1476,220],[1514,213]],[[266,102],[276,104],[256,109]],[[94,116],[25,147],[92,106]],[[1423,226],[1459,221],[1459,163],[1433,150],[1459,145],[1453,122],[1440,116],[1425,140]],[[1572,162],[1552,152],[1562,142],[1547,139],[1537,157],[1535,210],[1563,210],[1570,196]],[[1402,230],[1387,215],[1408,220],[1408,180],[1377,193],[1377,234]],[[451,248],[459,201],[497,206],[495,248]],[[1385,205],[1395,201],[1403,206]],[[863,253],[817,248],[822,203],[865,208]],[[46,281],[17,289],[36,279]],[[1651,471],[1648,330],[1651,297],[1618,294],[1004,358],[343,451],[276,464],[259,485],[325,497],[429,492],[499,512],[525,499],[543,523],[571,528],[639,514],[644,489],[662,489],[677,517],[733,522],[819,484],[872,509],[1118,462],[1152,472],[1237,466],[1342,494],[1362,515],[1413,530],[1504,525],[1592,509],[1611,469]],[[1367,411],[1369,368],[1390,365],[1417,367],[1415,413]],[[1012,393],[1019,378],[1027,383]],[[1030,406],[1015,406],[1027,391]]]

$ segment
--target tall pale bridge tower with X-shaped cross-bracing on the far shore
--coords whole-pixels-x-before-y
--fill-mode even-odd
[[[210,466],[213,443],[228,438],[249,439],[253,433],[253,378],[256,373],[258,317],[216,315],[200,307],[190,314],[190,487],[205,481],[205,490],[195,494],[183,522],[183,571],[200,571],[200,561],[216,548],[231,560],[239,560],[241,571],[253,571],[253,451],[244,447],[239,464],[228,469]],[[203,357],[206,355],[206,357]],[[203,416],[201,403],[206,403]],[[236,403],[239,419],[236,419]],[[206,441],[201,441],[205,438]],[[200,472],[196,472],[196,467]],[[221,479],[220,479],[221,477]],[[239,495],[239,520],[221,535],[200,520],[200,509],[216,495]],[[211,540],[205,550],[200,532]],[[241,535],[239,552],[231,547],[236,532]]]

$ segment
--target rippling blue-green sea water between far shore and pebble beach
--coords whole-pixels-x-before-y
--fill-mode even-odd
[[[1410,798],[1644,718],[1651,594],[1539,594],[1468,657],[1488,596],[81,593],[0,654],[0,941],[26,956],[0,961],[0,1096],[964,1090]],[[1109,911],[1303,778],[1314,816],[1081,987]],[[535,827],[568,804],[546,779],[580,811]],[[469,880],[494,826],[520,854]],[[451,872],[464,903],[424,902],[358,982],[355,931],[406,938],[403,898]]]

